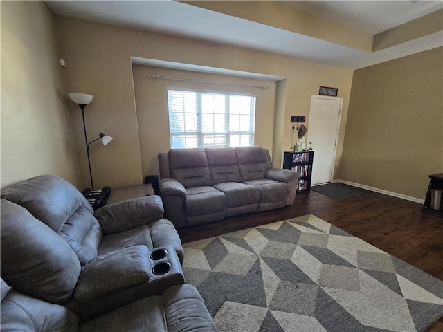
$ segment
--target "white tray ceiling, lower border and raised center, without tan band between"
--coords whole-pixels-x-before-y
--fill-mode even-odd
[[[45,1],[55,15],[165,33],[357,69],[443,46],[443,30],[364,52],[178,1]],[[280,1],[375,35],[443,8],[443,1]]]

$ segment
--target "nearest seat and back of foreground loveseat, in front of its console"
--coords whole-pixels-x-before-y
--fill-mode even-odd
[[[2,332],[216,331],[201,296],[189,284],[172,286],[80,324],[78,316],[64,306],[19,293],[3,279],[0,282]]]

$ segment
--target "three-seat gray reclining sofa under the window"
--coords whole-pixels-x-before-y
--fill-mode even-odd
[[[260,146],[170,149],[158,155],[165,216],[176,228],[293,204],[299,174]]]

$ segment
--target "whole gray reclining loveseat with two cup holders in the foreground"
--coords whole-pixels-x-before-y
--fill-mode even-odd
[[[1,331],[215,331],[159,196],[94,213],[43,175],[2,190],[0,214]]]

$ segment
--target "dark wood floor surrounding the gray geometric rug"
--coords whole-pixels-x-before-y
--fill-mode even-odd
[[[311,191],[297,194],[293,205],[285,208],[178,231],[186,243],[305,214],[314,214],[443,280],[443,218],[422,212],[419,203],[377,192],[338,200]],[[427,331],[443,331],[443,317]]]

